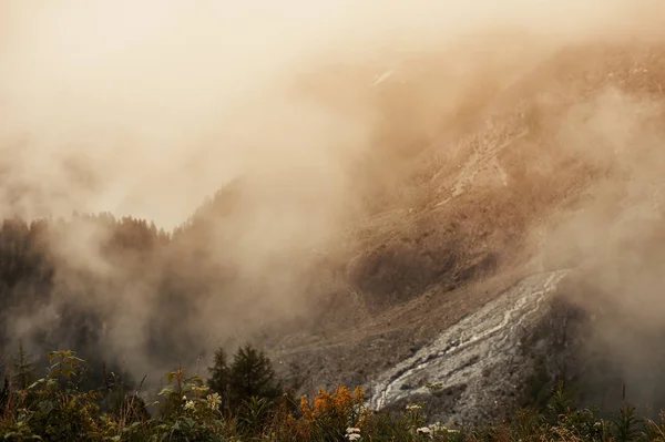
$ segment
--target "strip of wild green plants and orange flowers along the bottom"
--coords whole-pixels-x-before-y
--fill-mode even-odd
[[[149,404],[158,410],[151,417],[147,405],[135,393],[121,398],[117,410],[102,412],[100,403],[105,403],[103,395],[108,391],[80,388],[86,366],[73,352],[52,352],[49,362],[47,376],[30,386],[17,388],[23,387],[21,380],[4,381],[0,394],[0,440],[665,442],[665,415],[658,421],[640,419],[635,408],[626,405],[615,419],[604,420],[593,409],[577,408],[563,386],[552,392],[543,411],[521,410],[495,425],[449,429],[439,422],[428,424],[419,403],[399,412],[372,411],[360,387],[352,391],[344,386],[335,391],[319,390],[311,399],[301,398],[299,407],[293,394],[287,393],[274,399],[252,395],[235,407],[225,407],[224,397],[211,389],[209,383],[187,376],[181,368],[165,376],[166,386],[158,400]],[[237,386],[225,384],[225,389],[232,388],[239,391]]]

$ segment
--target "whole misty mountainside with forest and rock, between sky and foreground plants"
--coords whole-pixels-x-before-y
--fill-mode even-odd
[[[358,96],[318,85],[332,107],[368,100],[386,119],[341,163],[354,179],[247,175],[173,235],[109,215],[6,222],[0,342],[75,347],[139,376],[249,340],[299,392],[361,383],[375,405],[424,399],[464,422],[557,379],[597,380],[585,399],[630,381],[659,403],[640,379],[662,357],[643,342],[665,335],[664,54],[565,48],[516,80],[479,75],[460,107],[440,103],[454,76],[440,54],[374,88],[351,73]]]

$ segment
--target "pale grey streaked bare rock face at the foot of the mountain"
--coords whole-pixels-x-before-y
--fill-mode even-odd
[[[528,277],[444,330],[377,378],[372,407],[424,400],[431,419],[458,424],[497,415],[521,394],[530,374],[523,341],[546,315],[565,275],[560,270]]]

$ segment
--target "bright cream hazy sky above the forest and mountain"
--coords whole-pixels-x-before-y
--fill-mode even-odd
[[[172,227],[241,171],[335,169],[337,144],[366,143],[366,122],[287,92],[308,58],[490,25],[606,31],[635,3],[0,0],[0,215]]]

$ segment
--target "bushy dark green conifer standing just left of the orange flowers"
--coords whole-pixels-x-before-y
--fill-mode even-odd
[[[250,345],[238,349],[229,370],[229,400],[239,404],[249,398],[274,400],[280,386],[268,357]]]

